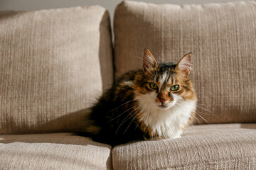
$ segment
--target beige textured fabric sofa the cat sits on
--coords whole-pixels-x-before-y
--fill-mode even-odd
[[[256,169],[256,2],[0,12],[0,169]],[[114,48],[112,48],[112,46]],[[111,147],[74,135],[113,77],[193,54],[183,137]]]

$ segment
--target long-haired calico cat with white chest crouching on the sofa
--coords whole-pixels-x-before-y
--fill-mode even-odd
[[[112,146],[181,137],[196,111],[190,72],[191,53],[173,64],[156,62],[145,49],[143,69],[127,72],[114,81],[92,106],[92,125],[85,132],[93,140]]]

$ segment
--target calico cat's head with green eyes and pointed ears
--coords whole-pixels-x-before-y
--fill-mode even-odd
[[[178,64],[173,64],[156,62],[151,52],[145,49],[143,75],[137,81],[139,100],[161,110],[178,105],[179,101],[196,100],[190,72],[191,53],[184,55]]]

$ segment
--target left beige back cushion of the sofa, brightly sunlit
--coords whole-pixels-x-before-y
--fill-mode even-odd
[[[0,134],[77,130],[112,84],[109,14],[1,11],[0,61]]]

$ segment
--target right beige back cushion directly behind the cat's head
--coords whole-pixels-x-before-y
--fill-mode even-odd
[[[178,62],[192,52],[198,113],[209,123],[255,123],[255,40],[255,1],[184,6],[124,1],[114,15],[115,74],[142,68],[138,57],[144,47],[159,62]]]

